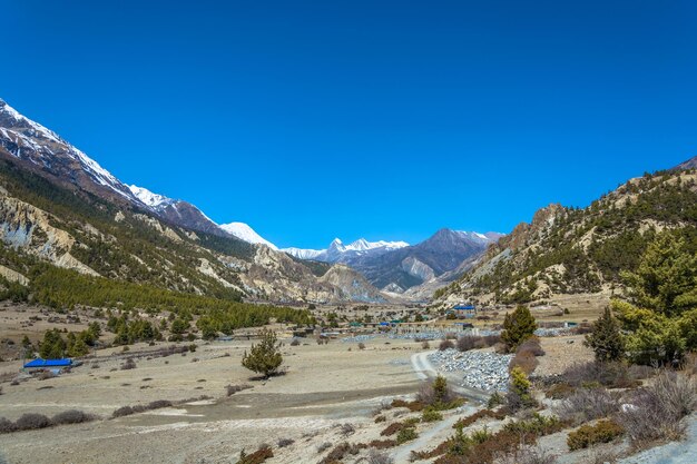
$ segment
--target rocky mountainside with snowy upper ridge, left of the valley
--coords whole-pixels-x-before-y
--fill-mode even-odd
[[[106,278],[233,300],[384,300],[350,268],[325,278],[328,266],[248,244],[186,201],[126,186],[0,100],[0,287],[42,282],[47,266],[86,285]]]

